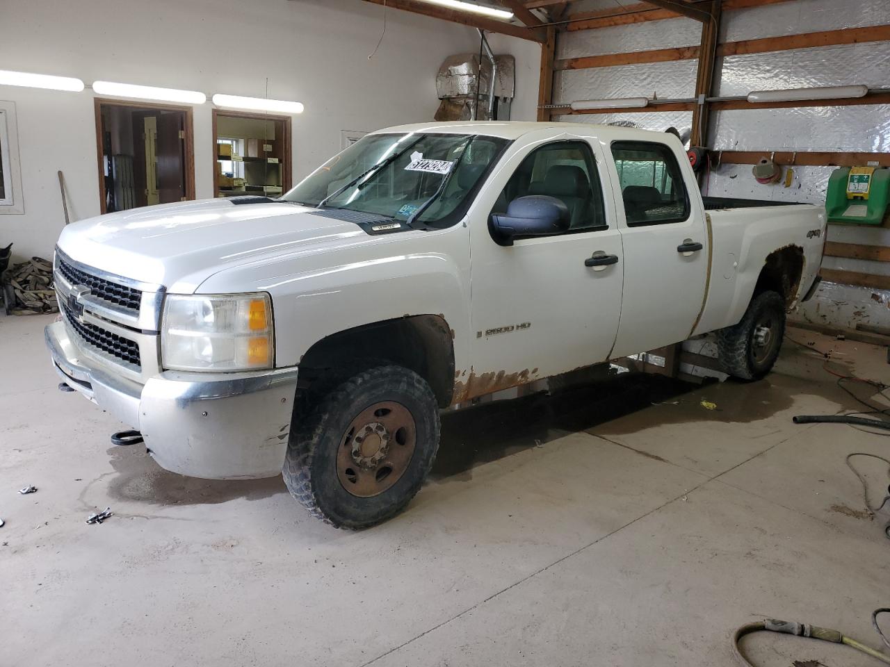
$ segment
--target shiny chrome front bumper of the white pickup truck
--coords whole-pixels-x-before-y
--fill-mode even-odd
[[[296,369],[262,373],[164,371],[145,384],[97,366],[64,322],[45,329],[53,366],[70,387],[138,428],[162,468],[190,477],[273,477],[281,472]]]

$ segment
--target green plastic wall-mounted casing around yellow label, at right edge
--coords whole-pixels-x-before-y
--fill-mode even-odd
[[[838,167],[831,173],[825,196],[825,212],[829,222],[854,225],[879,225],[884,222],[890,204],[890,169],[875,169],[870,175],[868,198],[865,193],[849,194],[847,189],[863,189],[869,179],[854,174],[850,181],[850,167]]]

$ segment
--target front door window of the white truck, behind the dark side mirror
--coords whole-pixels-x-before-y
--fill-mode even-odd
[[[533,150],[507,181],[491,213],[506,213],[510,202],[526,195],[562,200],[569,208],[569,234],[606,228],[603,189],[586,141],[556,141]]]

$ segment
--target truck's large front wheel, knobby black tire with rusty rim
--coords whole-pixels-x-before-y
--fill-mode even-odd
[[[433,390],[402,366],[371,368],[306,399],[294,423],[282,470],[287,489],[336,527],[374,526],[398,514],[439,449]]]

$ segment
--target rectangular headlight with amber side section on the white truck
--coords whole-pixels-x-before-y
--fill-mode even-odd
[[[161,362],[177,371],[245,371],[274,361],[269,294],[167,294]]]

